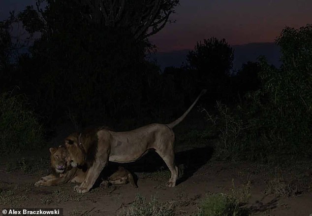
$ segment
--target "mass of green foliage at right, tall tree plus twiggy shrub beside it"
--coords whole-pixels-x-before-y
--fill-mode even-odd
[[[280,69],[259,58],[261,88],[235,110],[217,106],[220,158],[284,161],[312,156],[312,26],[285,28]],[[281,160],[282,159],[282,160]]]

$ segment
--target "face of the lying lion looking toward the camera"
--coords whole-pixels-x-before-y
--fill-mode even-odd
[[[70,158],[66,147],[60,145],[57,148],[50,148],[51,166],[57,173],[65,172],[70,166]]]

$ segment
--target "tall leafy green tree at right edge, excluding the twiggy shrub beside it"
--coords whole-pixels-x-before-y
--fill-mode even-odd
[[[260,58],[261,89],[247,95],[251,106],[246,113],[255,125],[252,133],[265,154],[311,158],[312,25],[286,27],[276,42],[281,47],[281,68]]]

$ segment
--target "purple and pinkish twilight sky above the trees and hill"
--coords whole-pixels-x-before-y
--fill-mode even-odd
[[[35,0],[0,0],[0,20]],[[180,0],[167,24],[150,39],[158,51],[193,49],[215,36],[229,44],[273,42],[285,26],[312,23],[312,0]]]

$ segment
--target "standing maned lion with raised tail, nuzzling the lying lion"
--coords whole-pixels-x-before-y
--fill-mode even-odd
[[[203,90],[194,103],[177,120],[169,124],[149,124],[132,131],[114,132],[105,128],[74,133],[65,139],[69,160],[73,167],[87,166],[89,169],[85,180],[74,187],[79,193],[88,192],[99,177],[108,161],[117,163],[133,162],[154,149],[168,166],[171,177],[166,183],[174,187],[178,178],[175,165],[174,133],[172,128],[179,124],[194,107]],[[70,174],[70,173],[69,173]],[[64,176],[68,175],[68,172]],[[63,177],[60,177],[63,178]]]

